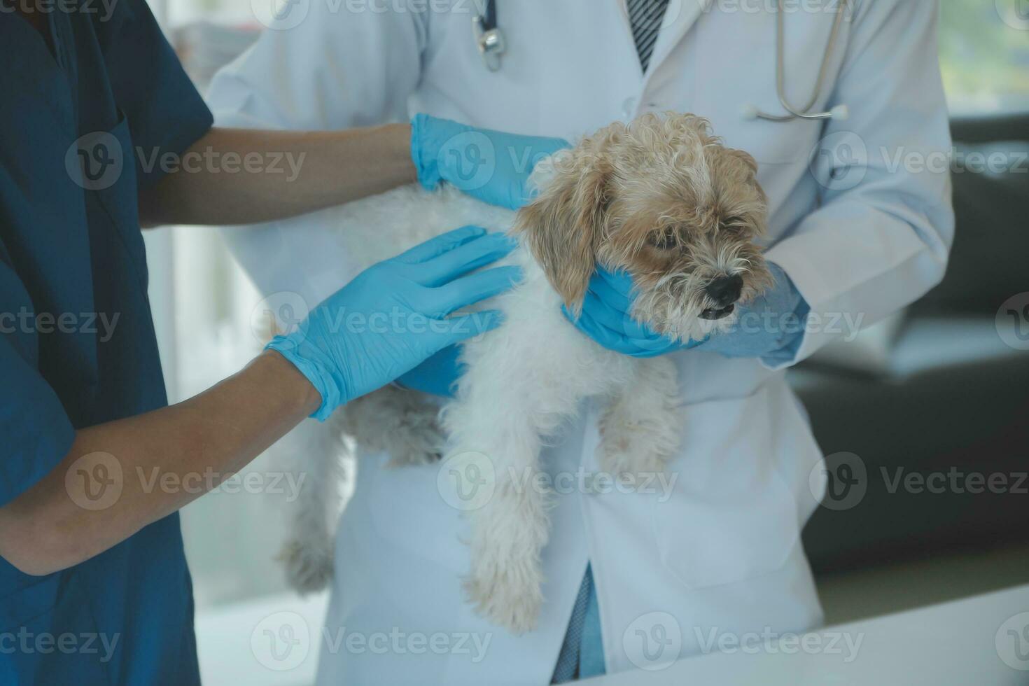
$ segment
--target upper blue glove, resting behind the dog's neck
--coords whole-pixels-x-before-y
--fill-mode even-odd
[[[529,175],[541,158],[569,147],[560,138],[518,136],[418,114],[411,121],[411,157],[418,181],[446,181],[490,205],[518,210],[531,200]]]

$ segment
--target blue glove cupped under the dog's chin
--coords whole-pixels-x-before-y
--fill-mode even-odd
[[[755,357],[766,362],[788,362],[803,339],[802,326],[809,308],[793,282],[777,264],[769,263],[775,285],[745,305],[738,305],[739,319],[725,333],[704,340],[681,342],[659,335],[629,315],[632,278],[601,267],[590,281],[582,315],[565,317],[588,336],[608,350],[646,358],[678,350],[700,349],[724,357]]]

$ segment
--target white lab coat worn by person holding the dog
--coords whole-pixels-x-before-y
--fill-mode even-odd
[[[644,76],[618,0],[499,0],[508,51],[497,73],[475,49],[470,0],[414,3],[428,12],[382,11],[410,7],[393,0],[311,0],[300,5],[308,15],[298,27],[267,31],[215,78],[210,102],[221,125],[341,129],[426,112],[571,140],[647,110],[702,114],[760,165],[768,257],[823,324],[805,335],[801,360],[847,333],[838,315],[872,324],[944,274],[953,237],[949,179],[891,168],[897,151],[950,149],[936,3],[858,3],[816,104],[847,104],[850,119],[771,123],[741,112],[748,104],[781,112],[775,16],[765,9],[774,3],[698,2],[672,1]],[[794,103],[810,97],[831,23],[825,11],[786,17]],[[863,142],[867,165],[863,177],[835,185],[831,157],[813,151],[823,137],[847,136],[841,132]],[[317,214],[233,229],[230,242],[265,292],[317,300],[351,276]],[[557,498],[543,556],[546,604],[526,636],[491,626],[463,602],[467,525],[440,498],[436,469],[384,470],[381,457],[364,458],[336,539],[326,630],[406,638],[385,650],[322,641],[318,683],[548,683],[588,561],[609,672],[711,650],[712,636],[818,624],[800,533],[821,494],[821,455],[784,372],[696,351],[675,359],[685,406],[671,497],[563,489],[571,493]],[[598,408],[586,405],[545,453],[552,473],[596,469]],[[447,646],[419,643],[425,637],[432,645],[440,633],[451,636]],[[467,642],[458,646],[461,636]],[[475,640],[488,641],[484,655],[469,649]]]

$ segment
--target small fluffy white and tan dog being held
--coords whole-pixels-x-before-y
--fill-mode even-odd
[[[526,488],[547,437],[587,397],[604,398],[601,469],[657,473],[679,444],[676,368],[634,359],[582,335],[561,312],[580,312],[596,264],[636,284],[633,317],[668,336],[728,329],[734,308],[771,285],[760,249],[767,198],[754,159],[721,144],[691,114],[613,123],[537,165],[534,202],[517,214],[445,188],[399,188],[340,208],[339,230],[361,268],[465,224],[510,231],[506,259],[525,278],[483,308],[504,313],[495,331],[464,344],[466,373],[441,409],[419,393],[387,387],[355,400],[308,446],[309,493],[298,499],[283,553],[292,584],[318,588],[331,575],[328,518],[339,483],[319,477],[345,433],[394,464],[440,457],[478,462],[492,497],[468,512],[471,569],[465,588],[490,621],[522,633],[543,601],[540,552],[547,498]],[[436,488],[435,483],[426,488]],[[313,492],[312,492],[313,490]]]

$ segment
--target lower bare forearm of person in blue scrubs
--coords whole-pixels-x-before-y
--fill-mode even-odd
[[[185,402],[80,430],[54,471],[0,508],[0,555],[33,574],[88,559],[216,486],[319,402],[289,362],[264,353]],[[73,467],[81,478],[66,478]],[[100,483],[120,494],[84,501]]]

